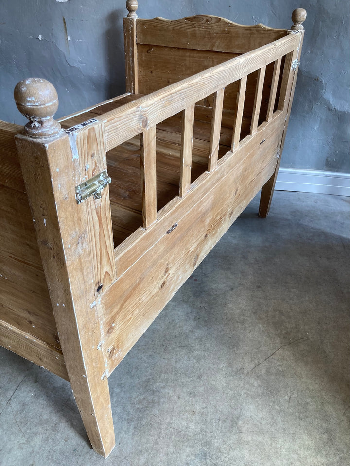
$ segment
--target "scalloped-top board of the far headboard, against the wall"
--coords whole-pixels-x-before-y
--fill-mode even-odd
[[[280,39],[284,29],[262,24],[244,26],[227,19],[196,15],[175,21],[155,18],[137,19],[138,44],[154,44],[198,50],[245,53]]]

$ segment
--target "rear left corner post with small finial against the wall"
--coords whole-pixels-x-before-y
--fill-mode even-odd
[[[129,13],[126,18],[123,18],[126,91],[131,94],[137,94],[139,92],[136,45],[136,19],[138,17],[136,10],[138,6],[137,0],[127,0],[126,8]]]

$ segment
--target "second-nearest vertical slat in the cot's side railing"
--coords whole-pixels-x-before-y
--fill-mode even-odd
[[[192,164],[192,139],[194,123],[194,104],[182,111],[180,192],[182,198],[190,189]]]

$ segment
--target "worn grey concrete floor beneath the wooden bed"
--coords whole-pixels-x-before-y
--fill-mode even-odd
[[[349,465],[349,201],[253,200],[109,378],[107,460],[70,384],[1,348],[0,465]]]

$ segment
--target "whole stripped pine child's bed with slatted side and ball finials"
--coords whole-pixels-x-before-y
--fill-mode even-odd
[[[30,78],[15,89],[29,123],[0,124],[0,344],[70,381],[105,457],[108,376],[260,189],[268,214],[306,18],[137,6],[126,94],[55,121],[54,87]]]

